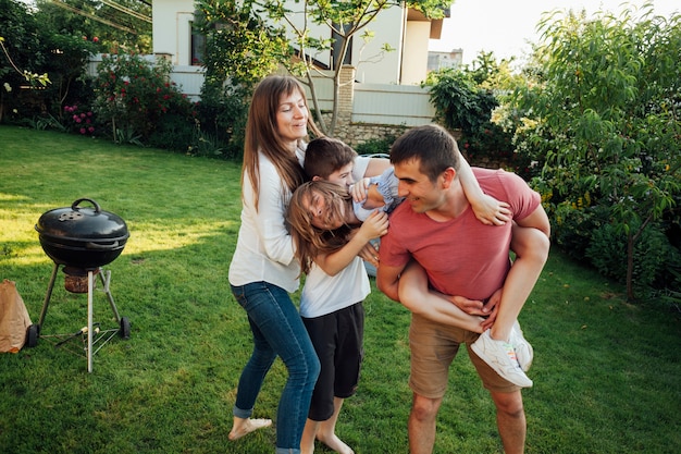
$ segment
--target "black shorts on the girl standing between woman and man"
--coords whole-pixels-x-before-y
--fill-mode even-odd
[[[322,365],[308,418],[325,421],[333,416],[334,397],[346,398],[357,391],[364,356],[364,308],[357,303],[325,316],[304,317],[302,322]]]

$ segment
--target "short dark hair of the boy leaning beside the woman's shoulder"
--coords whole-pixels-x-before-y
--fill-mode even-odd
[[[308,144],[302,167],[308,179],[319,176],[327,180],[329,175],[354,162],[355,158],[357,158],[357,151],[342,140],[333,137],[318,137]]]

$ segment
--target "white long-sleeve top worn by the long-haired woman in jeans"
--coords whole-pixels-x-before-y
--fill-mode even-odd
[[[305,149],[296,150],[296,156],[302,164]],[[292,293],[298,289],[300,273],[300,265],[294,257],[293,241],[284,224],[292,193],[274,164],[262,154],[258,172],[258,210],[248,174],[244,175],[242,225],[230,263],[230,283],[239,286],[265,281]]]

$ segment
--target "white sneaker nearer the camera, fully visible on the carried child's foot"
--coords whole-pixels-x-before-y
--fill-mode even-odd
[[[521,388],[531,388],[532,380],[522,371],[513,346],[504,341],[496,341],[485,331],[471,344],[471,348],[487,363],[495,372]]]

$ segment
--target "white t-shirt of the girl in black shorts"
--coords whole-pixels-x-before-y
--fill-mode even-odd
[[[370,159],[361,156],[355,159],[355,181],[364,176]],[[314,318],[335,312],[363,300],[370,292],[367,269],[359,257],[355,257],[336,275],[329,275],[317,263],[312,263],[300,294],[300,316]]]

